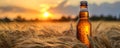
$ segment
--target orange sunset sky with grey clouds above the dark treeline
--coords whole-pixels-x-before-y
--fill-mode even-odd
[[[79,13],[80,0],[0,0],[0,17],[44,18],[48,12],[51,18],[62,15],[76,16]],[[120,0],[88,0],[91,14],[120,13]],[[118,5],[118,6],[116,6]],[[114,12],[114,13],[113,13]]]

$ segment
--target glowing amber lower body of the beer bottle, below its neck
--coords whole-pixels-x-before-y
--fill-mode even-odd
[[[91,23],[88,19],[80,19],[77,25],[77,39],[90,47],[88,36],[91,36]]]

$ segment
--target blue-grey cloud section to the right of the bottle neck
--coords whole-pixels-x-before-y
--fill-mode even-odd
[[[120,2],[115,2],[113,4],[103,3],[101,5],[89,4],[89,10],[91,14],[96,15],[118,15],[120,14]]]

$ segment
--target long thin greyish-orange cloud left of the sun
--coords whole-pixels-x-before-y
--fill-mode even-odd
[[[13,12],[13,13],[38,13],[36,10],[22,8],[18,6],[0,6],[1,13]]]

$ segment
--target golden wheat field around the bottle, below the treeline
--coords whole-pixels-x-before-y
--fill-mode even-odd
[[[92,48],[120,48],[120,23],[94,21]],[[0,48],[87,48],[76,39],[76,22],[0,22]]]

